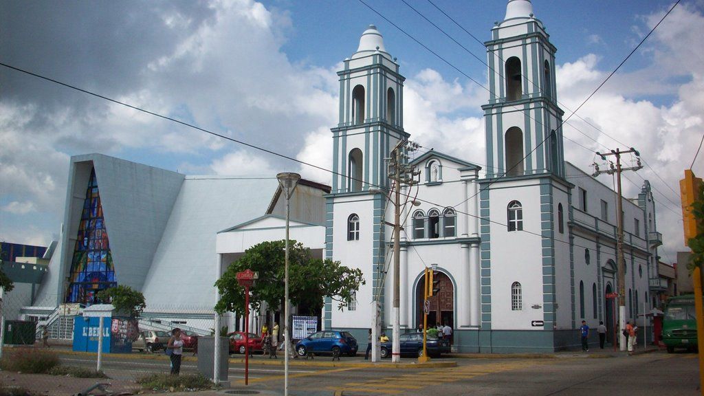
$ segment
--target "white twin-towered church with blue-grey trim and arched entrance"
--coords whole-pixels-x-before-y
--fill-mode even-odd
[[[605,295],[616,289],[615,194],[565,162],[556,49],[530,1],[509,1],[485,44],[484,175],[431,150],[410,159],[418,184],[401,185],[401,328],[422,324],[423,273],[436,265],[439,292],[428,320],[454,328],[455,350],[564,349],[579,344],[582,320],[612,328],[614,303]],[[396,186],[387,165],[396,144],[412,138],[403,129],[404,78],[374,26],[338,75],[326,254],[361,268],[367,285],[353,309],[328,302],[324,322],[364,337],[360,321],[372,323],[379,302],[389,334],[394,206],[387,194]],[[662,238],[648,182],[637,200],[624,201],[627,318],[636,320],[657,304],[648,279],[657,277]]]

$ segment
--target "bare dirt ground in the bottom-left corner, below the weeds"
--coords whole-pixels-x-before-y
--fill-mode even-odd
[[[43,396],[75,395],[96,383],[109,383],[106,389],[120,394],[137,395],[144,392],[142,387],[132,380],[114,380],[110,378],[74,378],[68,376],[50,376],[49,374],[23,374],[0,371],[0,383],[6,387],[18,387]],[[149,390],[146,392],[151,393]],[[96,395],[100,393],[96,392]]]

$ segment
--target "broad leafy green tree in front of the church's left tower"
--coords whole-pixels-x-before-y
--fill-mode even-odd
[[[244,287],[237,282],[237,273],[250,269],[259,273],[259,279],[250,287],[249,303],[258,309],[262,302],[268,307],[279,307],[284,300],[284,240],[261,242],[247,249],[244,255],[227,267],[215,282],[220,291],[220,301],[215,311],[222,314],[234,311],[244,314]],[[325,297],[346,307],[365,280],[362,271],[351,269],[339,261],[315,259],[308,247],[289,240],[289,298],[291,304],[303,305],[312,312],[319,312]]]

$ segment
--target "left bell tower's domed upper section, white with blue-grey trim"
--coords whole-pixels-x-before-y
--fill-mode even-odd
[[[357,51],[337,72],[340,81],[339,122],[332,128],[332,192],[367,192],[384,186],[384,159],[403,132],[403,81],[396,58],[369,25]]]

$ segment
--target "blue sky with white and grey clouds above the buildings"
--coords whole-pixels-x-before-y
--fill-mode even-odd
[[[483,165],[487,70],[477,58],[505,1],[365,3],[2,0],[0,63],[330,168],[335,72],[373,23],[407,78],[412,139]],[[565,118],[672,4],[533,1],[558,47]],[[684,249],[678,180],[704,133],[703,31],[704,1],[681,1],[564,127],[565,158],[589,173],[594,151],[639,149],[646,166],[624,174],[624,192],[635,197],[650,180],[670,263]],[[91,152],[186,174],[298,171],[329,182],[325,172],[0,66],[0,240],[55,238],[69,158]],[[692,168],[704,175],[704,153]]]

